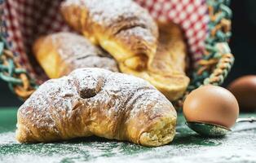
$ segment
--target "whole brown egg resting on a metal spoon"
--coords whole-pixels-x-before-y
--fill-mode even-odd
[[[220,86],[201,86],[185,99],[183,114],[187,121],[205,122],[231,128],[239,114],[236,98]]]

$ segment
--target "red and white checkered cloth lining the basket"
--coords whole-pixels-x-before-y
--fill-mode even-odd
[[[88,0],[89,1],[89,0]],[[120,0],[121,1],[121,0]],[[43,81],[45,77],[31,61],[31,45],[41,35],[58,31],[72,31],[60,15],[62,0],[5,0],[4,20],[7,24],[7,41],[17,52],[17,59],[29,73]],[[100,2],[100,0],[99,0]],[[209,21],[205,0],[135,0],[148,9],[155,19],[170,20],[179,24],[188,41],[192,59],[201,58]]]

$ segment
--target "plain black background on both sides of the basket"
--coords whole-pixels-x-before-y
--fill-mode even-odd
[[[223,86],[246,74],[256,74],[256,0],[232,0],[232,39],[230,46],[236,57],[232,72]],[[0,107],[20,106],[22,102],[12,95],[0,81]]]

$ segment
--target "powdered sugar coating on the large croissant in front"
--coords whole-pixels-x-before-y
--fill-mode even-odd
[[[81,108],[77,110],[77,106]],[[74,110],[79,113],[74,113]],[[106,135],[111,133],[107,138],[118,139],[117,135],[112,135],[112,130],[120,130],[117,126],[126,122],[122,115],[127,114],[127,119],[139,117],[139,114],[149,119],[166,114],[175,115],[168,99],[148,81],[102,68],[81,68],[67,77],[46,81],[20,107],[19,112],[20,118],[29,121],[37,130],[43,129],[46,133],[55,130],[55,134],[60,134],[60,139],[61,135],[66,134],[61,128],[73,130],[68,128],[72,127],[68,124],[74,118],[78,124],[82,123],[79,119],[93,121],[98,127],[106,128],[103,131]],[[102,120],[108,122],[101,124]],[[86,125],[81,127],[77,132],[84,136],[88,129]],[[68,135],[77,137],[73,133]]]

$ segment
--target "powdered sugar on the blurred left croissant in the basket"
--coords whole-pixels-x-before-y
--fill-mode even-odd
[[[46,37],[45,42],[52,42],[60,58],[70,67],[106,68],[117,72],[116,61],[98,46],[76,33],[54,33]]]

